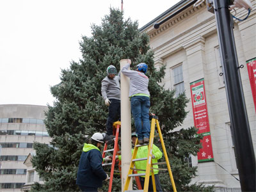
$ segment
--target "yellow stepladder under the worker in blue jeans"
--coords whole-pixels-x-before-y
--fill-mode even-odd
[[[141,158],[141,159],[136,159],[138,148],[142,147],[142,146],[145,146],[145,145],[138,145],[138,138],[136,140],[136,144],[134,146],[134,151],[133,151],[133,154],[132,154],[132,159],[131,159],[129,172],[128,172],[126,180],[125,180],[124,191],[128,191],[128,186],[129,186],[129,183],[130,183],[132,177],[144,176],[144,175],[145,175],[144,188],[142,190],[133,190],[133,191],[143,191],[143,192],[148,191],[148,183],[149,183],[149,178],[150,178],[150,172],[152,173],[152,185],[153,185],[154,191],[156,191],[156,182],[155,182],[155,177],[154,177],[154,172],[153,172],[153,169],[155,169],[155,168],[153,168],[153,165],[154,164],[163,164],[163,163],[154,163],[154,164],[152,163],[152,147],[153,147],[153,143],[154,143],[154,133],[155,133],[156,125],[157,125],[157,131],[159,133],[159,138],[160,138],[161,145],[162,145],[163,152],[164,152],[164,157],[165,157],[165,161],[166,161],[165,163],[167,165],[168,172],[169,172],[169,175],[170,175],[170,180],[172,182],[172,188],[173,188],[174,192],[177,192],[176,187],[175,187],[175,183],[174,183],[174,180],[173,180],[172,170],[171,170],[171,166],[170,166],[170,163],[169,163],[169,160],[168,160],[166,148],[164,146],[164,140],[163,140],[163,136],[162,136],[162,133],[161,133],[160,126],[159,126],[158,117],[156,115],[152,116],[150,138],[149,138],[149,143],[148,143],[148,156],[147,157]],[[132,174],[132,171],[134,170],[135,162],[136,161],[144,161],[144,160],[147,160],[146,170],[143,170],[143,171],[145,171],[145,173]],[[135,168],[135,170],[136,170],[136,168]]]

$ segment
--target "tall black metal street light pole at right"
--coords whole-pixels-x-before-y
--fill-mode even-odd
[[[255,154],[237,60],[228,0],[213,0],[231,129],[242,191],[256,191]]]

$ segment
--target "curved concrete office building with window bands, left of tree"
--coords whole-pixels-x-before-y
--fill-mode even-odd
[[[35,153],[34,141],[49,144],[51,140],[44,125],[47,109],[47,106],[0,105],[0,191],[20,191],[27,183],[27,172],[31,173],[29,181],[37,179],[24,161]]]

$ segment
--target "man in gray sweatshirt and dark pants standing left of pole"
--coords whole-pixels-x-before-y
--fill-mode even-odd
[[[109,65],[107,74],[101,81],[101,94],[108,106],[107,135],[114,138],[113,122],[120,119],[120,74],[116,76],[117,70],[113,65]]]

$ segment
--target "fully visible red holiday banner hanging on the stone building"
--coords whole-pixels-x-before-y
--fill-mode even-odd
[[[202,148],[198,152],[198,162],[214,161],[210,133],[207,104],[205,99],[204,79],[190,83],[191,101],[193,107],[194,124],[198,133],[202,133]]]

